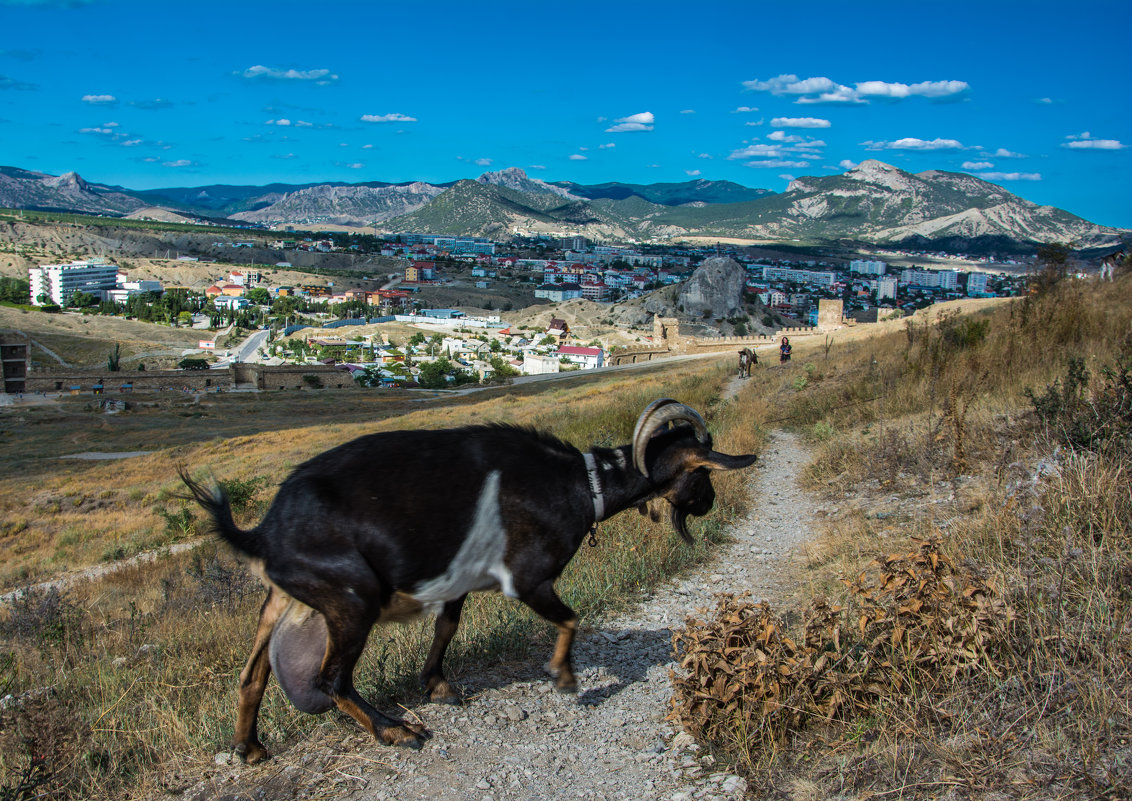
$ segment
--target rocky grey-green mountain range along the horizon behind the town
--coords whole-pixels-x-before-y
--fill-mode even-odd
[[[501,239],[516,232],[602,240],[689,236],[771,242],[861,242],[950,250],[1027,250],[1070,242],[1122,247],[1132,232],[1039,206],[958,172],[908,173],[866,161],[804,176],[784,192],[730,181],[547,182],[511,167],[448,183],[310,183],[131,191],[0,167],[0,206],[137,215],[147,207],[264,226],[344,225]]]

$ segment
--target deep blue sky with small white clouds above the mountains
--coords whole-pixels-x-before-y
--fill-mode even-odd
[[[0,0],[0,164],[131,189],[791,176],[1132,227],[1132,3]]]

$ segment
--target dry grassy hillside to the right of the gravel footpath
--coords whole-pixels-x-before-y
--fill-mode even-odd
[[[808,628],[739,602],[684,635],[689,656],[727,626],[762,637],[727,672],[762,677],[741,696],[772,714],[739,715],[724,735],[721,721],[741,709],[711,691],[722,668],[689,677],[701,695],[686,698],[700,706],[680,710],[719,732],[714,744],[753,785],[844,799],[1132,796],[1129,296],[1127,273],[1112,285],[1063,282],[994,313],[767,371],[763,420],[809,436],[806,480],[840,510],[804,565]],[[937,604],[899,598],[893,614],[874,603],[898,580],[892,554],[917,539],[938,543],[938,563],[963,576],[959,598],[983,597],[975,609],[989,613],[944,615],[943,639],[929,627],[920,643],[935,643],[933,658],[951,649],[968,661],[926,673],[893,638],[898,625],[900,643],[924,631],[925,613],[937,625]],[[917,592],[933,583],[914,582]],[[976,632],[986,639],[975,646],[949,639]],[[758,651],[766,663],[745,665]],[[882,672],[854,670],[863,658]],[[837,709],[822,695],[831,672],[851,682]]]

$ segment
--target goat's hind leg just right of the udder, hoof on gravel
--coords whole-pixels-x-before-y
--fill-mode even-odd
[[[377,614],[363,609],[327,610],[329,643],[316,686],[328,695],[338,709],[358,721],[378,742],[387,746],[420,748],[431,737],[422,726],[383,715],[362,698],[353,686],[353,669],[366,647],[369,629]]]

